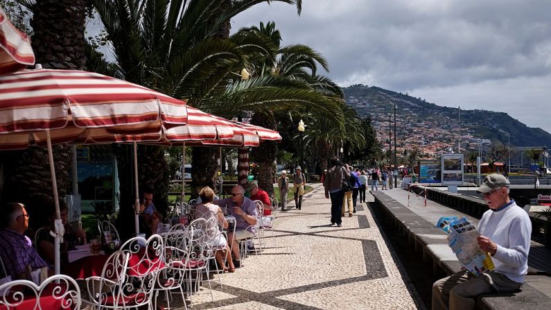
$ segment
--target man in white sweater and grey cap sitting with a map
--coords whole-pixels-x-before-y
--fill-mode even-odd
[[[509,198],[509,180],[494,173],[478,188],[488,207],[478,223],[478,246],[491,255],[493,270],[475,277],[462,270],[432,285],[432,309],[475,309],[482,293],[522,289],[528,270],[532,224],[526,212]]]

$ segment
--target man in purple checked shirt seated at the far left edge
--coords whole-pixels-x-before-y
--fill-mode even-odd
[[[46,262],[38,256],[33,243],[24,232],[28,229],[28,213],[21,203],[8,203],[3,208],[6,223],[0,231],[0,255],[6,273],[12,279],[33,280],[31,273],[45,270]]]

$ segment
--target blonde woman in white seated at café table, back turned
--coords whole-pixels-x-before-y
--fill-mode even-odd
[[[222,210],[218,205],[213,205],[212,200],[214,198],[214,191],[210,187],[203,187],[199,193],[199,196],[201,198],[202,203],[199,205],[195,205],[195,214],[194,218],[204,218],[205,220],[209,220],[209,218],[216,217],[218,221],[218,225],[221,225],[224,227],[224,229],[227,229],[228,223],[226,219],[224,218],[224,214],[222,213]],[[216,228],[216,229],[214,229]],[[226,238],[223,234],[218,233],[218,227],[213,227],[212,231],[208,232],[211,234],[211,237],[215,237],[216,239],[213,240],[213,246],[216,248],[225,248],[226,251],[226,261],[229,266],[227,268],[224,266],[224,262],[222,261],[222,250],[217,250],[215,257],[216,257],[216,264],[218,266],[224,266],[224,271],[229,271],[230,273],[233,273],[236,268],[234,266],[234,261],[231,259],[231,251],[229,250],[229,246],[227,245]]]

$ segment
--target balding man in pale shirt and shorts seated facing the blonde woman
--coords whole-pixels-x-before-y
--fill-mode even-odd
[[[231,198],[213,201],[220,207],[227,206],[229,214],[236,218],[236,232],[228,232],[228,240],[231,242],[231,254],[234,257],[234,265],[239,268],[240,255],[237,240],[249,239],[254,236],[256,225],[256,206],[249,198],[245,197],[245,189],[237,185],[231,189]]]

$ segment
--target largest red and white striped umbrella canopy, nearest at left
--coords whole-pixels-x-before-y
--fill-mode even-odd
[[[0,76],[0,148],[54,143],[159,141],[187,121],[184,101],[87,71],[22,70]],[[96,142],[97,141],[97,142]]]

